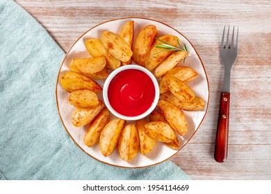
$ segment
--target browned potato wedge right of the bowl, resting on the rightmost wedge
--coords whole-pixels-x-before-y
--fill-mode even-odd
[[[188,85],[181,82],[178,78],[175,78],[174,76],[167,76],[166,82],[170,92],[182,102],[188,102],[195,98],[194,91]]]

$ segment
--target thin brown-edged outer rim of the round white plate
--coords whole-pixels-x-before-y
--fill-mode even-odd
[[[123,20],[123,19],[145,19],[145,20],[149,20],[149,21],[155,21],[157,23],[160,23],[160,24],[163,24],[165,26],[167,26],[168,28],[171,28],[172,30],[176,31],[176,33],[179,33],[180,35],[182,35],[188,42],[189,44],[192,46],[192,48],[194,48],[194,51],[195,53],[197,54],[197,57],[199,58],[201,64],[202,64],[202,68],[204,69],[204,74],[206,76],[206,82],[207,82],[207,88],[208,88],[208,102],[206,103],[206,112],[202,118],[202,121],[199,123],[199,126],[197,127],[197,129],[195,130],[195,132],[192,134],[192,136],[190,137],[190,139],[183,145],[182,148],[180,148],[179,150],[176,150],[176,153],[174,153],[174,155],[171,155],[170,157],[167,157],[167,159],[164,159],[163,161],[158,161],[156,162],[155,164],[149,164],[149,165],[146,165],[146,166],[120,166],[120,165],[117,165],[117,164],[110,164],[106,161],[101,161],[100,159],[97,159],[96,157],[90,155],[88,152],[86,152],[83,148],[81,148],[81,145],[79,145],[79,143],[77,143],[74,138],[72,137],[72,135],[69,133],[69,131],[67,130],[67,127],[65,126],[64,124],[64,121],[63,121],[63,118],[61,117],[61,114],[60,114],[60,110],[59,110],[59,105],[58,105],[58,82],[59,82],[59,75],[60,75],[60,70],[62,69],[63,67],[63,64],[67,58],[67,55],[69,54],[69,51],[71,51],[71,49],[74,47],[74,44],[76,44],[79,39],[81,39],[86,33],[88,33],[90,30],[92,30],[93,28],[96,28],[97,26],[101,26],[102,24],[105,24],[105,23],[108,23],[110,21],[117,21],[117,20]],[[176,30],[175,28],[173,28],[172,26],[169,26],[168,24],[165,24],[163,21],[158,21],[156,19],[150,19],[150,18],[146,18],[146,17],[120,17],[120,18],[115,18],[115,19],[109,19],[109,20],[106,20],[106,21],[103,21],[95,26],[92,26],[91,28],[89,28],[88,30],[85,31],[85,33],[83,33],[79,38],[76,39],[76,41],[72,44],[72,46],[69,47],[69,50],[67,51],[67,53],[65,53],[65,58],[63,59],[63,61],[61,62],[61,65],[59,67],[59,70],[58,70],[58,75],[57,75],[57,79],[56,79],[56,89],[55,89],[55,94],[56,94],[56,106],[57,106],[57,109],[58,109],[58,116],[60,117],[60,121],[61,123],[63,124],[63,127],[65,128],[65,131],[67,132],[67,134],[69,134],[69,137],[72,139],[72,141],[74,141],[74,143],[77,145],[77,147],[79,147],[86,155],[92,157],[93,159],[101,162],[101,163],[104,163],[104,164],[107,164],[107,165],[110,165],[110,166],[115,166],[115,167],[119,167],[119,168],[131,168],[131,169],[136,169],[136,168],[148,168],[148,167],[151,167],[151,166],[155,166],[155,165],[158,165],[158,164],[161,164],[169,159],[171,159],[172,157],[174,157],[176,154],[178,154],[183,148],[186,147],[186,145],[190,142],[190,140],[192,139],[193,136],[195,136],[195,134],[197,133],[197,131],[199,130],[199,127],[201,127],[205,117],[206,117],[206,114],[208,112],[208,106],[209,106],[209,102],[210,102],[210,85],[209,85],[209,81],[208,81],[208,75],[206,73],[206,69],[204,67],[204,63],[202,62],[202,58],[200,58],[199,56],[199,53],[197,53],[197,50],[195,48],[195,46],[190,42],[190,40],[188,38],[186,38],[186,36],[184,36],[182,33],[179,32],[179,30]]]

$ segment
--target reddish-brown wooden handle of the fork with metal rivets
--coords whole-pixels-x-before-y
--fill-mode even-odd
[[[220,112],[217,121],[217,134],[215,139],[215,161],[227,160],[229,135],[229,92],[222,92],[220,96]]]

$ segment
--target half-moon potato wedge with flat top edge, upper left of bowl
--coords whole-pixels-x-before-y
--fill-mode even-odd
[[[106,67],[106,57],[74,59],[72,65],[83,73],[97,73]]]

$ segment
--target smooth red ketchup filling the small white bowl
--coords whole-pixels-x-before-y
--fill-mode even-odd
[[[154,83],[137,69],[117,73],[108,86],[108,100],[116,112],[124,116],[138,116],[154,102]]]

